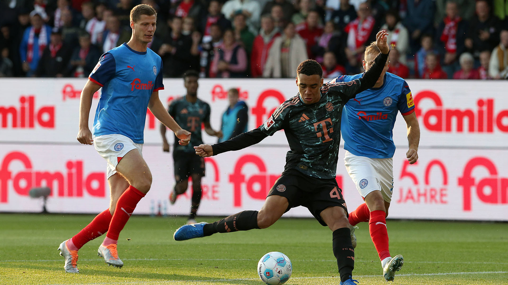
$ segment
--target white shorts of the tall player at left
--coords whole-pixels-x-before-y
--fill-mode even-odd
[[[96,151],[106,159],[107,178],[116,173],[116,165],[128,152],[137,149],[143,155],[143,144],[136,144],[132,139],[121,134],[103,134],[93,138]]]

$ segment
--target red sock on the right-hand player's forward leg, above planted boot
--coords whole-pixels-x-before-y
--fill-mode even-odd
[[[369,232],[372,242],[379,254],[379,259],[384,260],[390,257],[388,250],[388,231],[386,227],[386,213],[384,210],[375,210],[370,212]]]

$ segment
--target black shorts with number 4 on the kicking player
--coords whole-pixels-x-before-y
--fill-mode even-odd
[[[284,171],[275,182],[268,196],[278,195],[286,197],[291,208],[304,206],[309,209],[314,218],[321,225],[327,226],[321,219],[321,212],[330,206],[347,207],[342,197],[342,190],[335,179],[321,179],[301,173],[296,169]],[[347,215],[347,214],[346,214]]]

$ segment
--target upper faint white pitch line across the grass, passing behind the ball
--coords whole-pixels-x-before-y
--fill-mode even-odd
[[[80,259],[80,261],[98,261],[101,259]],[[212,259],[200,259],[200,258],[128,258],[122,259],[124,261],[257,261],[254,259],[240,258],[240,259],[229,259],[229,258],[212,258]],[[3,262],[60,262],[62,259],[40,259],[40,260],[0,260]],[[293,260],[298,262],[335,262],[337,260],[327,259],[316,259],[316,260]],[[355,260],[355,262],[372,262],[371,260]],[[437,263],[437,264],[508,264],[508,262],[471,262],[471,261],[404,261],[404,263]]]

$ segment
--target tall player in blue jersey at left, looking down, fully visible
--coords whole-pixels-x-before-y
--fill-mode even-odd
[[[164,89],[162,61],[147,48],[156,20],[151,6],[134,7],[131,40],[101,56],[81,92],[77,139],[81,144],[93,145],[106,159],[111,202],[88,226],[58,247],[67,272],[79,272],[79,248],[106,232],[98,255],[109,265],[123,266],[117,251],[119,233],[152,183],[150,169],[141,155],[146,109],[175,132],[179,144],[187,145],[190,140],[190,133],[169,116],[158,97],[158,91]],[[101,98],[90,132],[92,96],[100,88]]]

